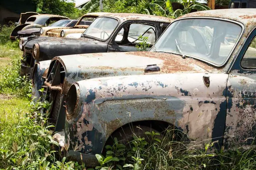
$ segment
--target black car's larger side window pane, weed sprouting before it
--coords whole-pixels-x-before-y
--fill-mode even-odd
[[[128,32],[128,41],[139,43],[139,36],[148,37],[147,43],[154,44],[156,41],[155,27],[146,24],[131,24]]]

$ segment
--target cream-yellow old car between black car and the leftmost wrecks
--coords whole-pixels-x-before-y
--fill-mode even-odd
[[[74,38],[80,38],[82,33],[91,25],[97,17],[106,15],[107,12],[93,12],[83,15],[77,24],[74,27],[70,28],[54,28],[54,29],[45,29],[42,28],[40,37],[67,37],[72,34]]]

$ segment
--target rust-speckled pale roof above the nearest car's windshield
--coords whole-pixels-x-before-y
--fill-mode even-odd
[[[193,12],[183,15],[180,18],[188,17],[214,17],[233,20],[242,23],[245,27],[256,26],[256,9],[254,8],[237,8],[237,9],[217,9]]]

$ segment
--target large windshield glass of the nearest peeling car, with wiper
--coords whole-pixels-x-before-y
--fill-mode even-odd
[[[241,26],[222,20],[180,20],[168,27],[151,51],[182,52],[187,56],[222,65],[241,32]]]

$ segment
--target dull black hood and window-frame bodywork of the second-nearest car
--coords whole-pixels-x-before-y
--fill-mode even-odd
[[[103,16],[108,16],[110,14],[106,14]],[[111,14],[112,15],[112,14]],[[101,17],[103,17],[101,16]],[[118,15],[117,15],[118,16]],[[120,14],[122,16],[122,14]],[[134,14],[134,16],[140,16]],[[144,17],[147,15],[143,15]],[[149,16],[148,16],[149,17]],[[120,18],[120,17],[119,17]],[[134,17],[135,18],[135,17]],[[151,18],[151,17],[149,17]],[[153,17],[158,18],[158,17]],[[161,18],[161,17],[160,17]],[[163,17],[162,17],[163,18]],[[118,19],[118,18],[116,18]],[[149,19],[150,20],[150,19]],[[153,19],[151,19],[153,20]],[[163,22],[160,21],[148,21],[144,20],[144,18],[137,19],[129,19],[129,22],[134,23],[148,23],[150,25],[154,25],[156,28],[156,39],[162,34],[161,30],[163,26],[167,26],[173,19],[166,18]],[[81,54],[81,53],[97,53],[97,52],[123,52],[123,51],[136,51],[135,44],[132,45],[117,45],[115,44],[115,36],[121,29],[124,22],[128,20],[124,20],[119,22],[114,33],[110,35],[109,39],[105,41],[100,41],[98,39],[93,38],[54,38],[54,37],[39,37],[33,38],[26,43],[23,44],[24,50],[26,53],[32,53],[32,48],[34,44],[39,44],[39,56],[35,58],[36,62],[44,61],[52,59],[55,56],[60,55],[70,55],[70,54]],[[119,29],[119,30],[118,30]],[[72,30],[73,29],[68,29]],[[75,30],[75,29],[74,29]],[[82,30],[82,29],[78,29]],[[58,30],[60,31],[60,30]],[[58,32],[57,31],[57,32]]]

